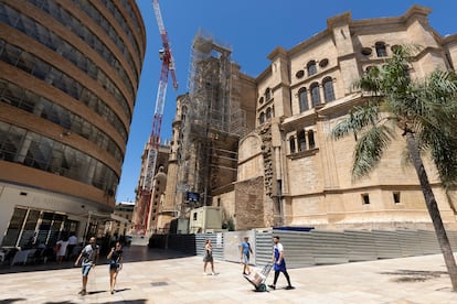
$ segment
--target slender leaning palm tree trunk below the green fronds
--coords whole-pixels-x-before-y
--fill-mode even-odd
[[[456,260],[454,259],[453,248],[450,247],[449,239],[447,238],[442,216],[439,214],[438,204],[436,203],[424,163],[421,159],[417,142],[411,132],[406,133],[406,144],[411,159],[413,160],[414,167],[416,169],[417,177],[421,182],[422,193],[424,194],[425,204],[427,205],[428,214],[431,215],[433,226],[435,227],[435,234],[438,238],[438,243],[443,252],[447,272],[449,273],[453,290],[457,292],[457,265]]]

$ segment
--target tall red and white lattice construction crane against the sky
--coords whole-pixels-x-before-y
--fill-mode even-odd
[[[160,6],[158,0],[152,0],[153,11],[156,13],[157,24],[159,26],[160,37],[162,40],[162,46],[159,51],[159,57],[162,61],[162,67],[160,72],[159,87],[157,89],[156,109],[153,112],[152,131],[148,141],[148,155],[145,166],[145,178],[140,192],[140,208],[138,216],[140,220],[137,222],[137,231],[141,230],[142,235],[146,234],[149,225],[149,209],[152,194],[153,176],[156,174],[157,154],[160,148],[160,128],[162,124],[163,105],[167,95],[168,75],[171,74],[173,80],[174,90],[178,89],[177,75],[174,73],[174,61],[171,54],[170,41],[163,25],[162,13],[160,12]],[[141,226],[141,227],[140,227]]]

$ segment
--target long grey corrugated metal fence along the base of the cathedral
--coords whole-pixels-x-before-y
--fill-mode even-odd
[[[278,236],[284,246],[287,265],[291,269],[440,253],[435,231],[413,229],[344,231],[268,229],[170,235],[168,248],[203,257],[205,241],[210,239],[215,260],[238,262],[240,246],[245,236],[249,237],[254,250],[251,262],[256,265],[264,265],[272,260],[273,236]],[[447,236],[453,250],[456,251],[457,231],[449,230]]]

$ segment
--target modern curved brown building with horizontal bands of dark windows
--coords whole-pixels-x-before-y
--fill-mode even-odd
[[[97,234],[146,48],[134,0],[0,1],[0,242]]]

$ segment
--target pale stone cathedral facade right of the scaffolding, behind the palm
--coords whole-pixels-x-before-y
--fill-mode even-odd
[[[401,161],[405,148],[401,134],[375,171],[355,183],[350,173],[355,140],[330,139],[336,123],[366,100],[353,88],[354,82],[371,66],[382,65],[398,45],[423,46],[413,59],[412,77],[422,78],[435,68],[455,69],[457,35],[437,33],[428,23],[429,12],[413,6],[401,17],[371,20],[352,20],[349,12],[342,13],[329,18],[327,29],[295,47],[274,50],[269,66],[254,79],[254,94],[251,78],[237,74],[236,79],[248,84],[241,95],[253,96],[245,102],[255,105],[254,127],[236,144],[235,181],[211,189],[204,205],[222,207],[225,220],[237,230],[432,228],[414,169]],[[190,93],[189,102],[194,107],[200,101],[192,100]],[[182,112],[177,128],[181,128]],[[180,142],[185,141],[185,132],[177,134],[183,137]],[[457,228],[455,193],[446,194],[432,163],[425,163],[443,220]],[[174,204],[182,202],[178,198]]]

